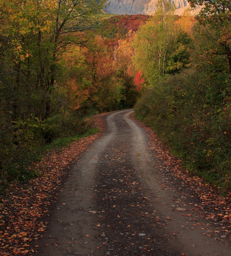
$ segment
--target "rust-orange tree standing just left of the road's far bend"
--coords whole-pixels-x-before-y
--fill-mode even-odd
[[[99,112],[116,108],[118,88],[115,82],[115,68],[112,51],[101,36],[95,36],[83,49],[87,66],[88,108]]]

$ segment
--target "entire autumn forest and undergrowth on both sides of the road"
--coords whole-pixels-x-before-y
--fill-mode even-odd
[[[159,1],[153,16],[104,12],[106,1],[0,0],[0,186],[91,116],[133,108],[191,173],[230,191],[231,7]]]

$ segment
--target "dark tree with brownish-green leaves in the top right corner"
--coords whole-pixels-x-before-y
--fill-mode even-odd
[[[189,3],[191,7],[202,7],[197,16],[200,27],[197,29],[196,37],[201,38],[200,48],[203,49],[203,56],[215,66],[219,63],[219,69],[231,73],[231,2],[189,0]]]

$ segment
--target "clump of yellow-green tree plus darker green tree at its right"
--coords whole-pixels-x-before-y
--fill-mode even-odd
[[[177,26],[172,5],[160,2],[158,8],[152,20],[139,28],[133,43],[134,66],[143,72],[150,86],[191,63],[193,41]]]

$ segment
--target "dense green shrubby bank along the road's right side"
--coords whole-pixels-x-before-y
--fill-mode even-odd
[[[144,92],[136,118],[152,126],[185,167],[231,191],[230,75],[187,70]]]

